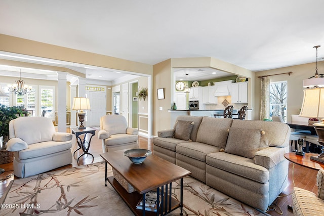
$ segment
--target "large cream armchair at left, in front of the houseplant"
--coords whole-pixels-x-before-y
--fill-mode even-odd
[[[7,150],[14,153],[14,174],[25,178],[72,162],[72,134],[55,131],[51,119],[19,117],[9,122]]]

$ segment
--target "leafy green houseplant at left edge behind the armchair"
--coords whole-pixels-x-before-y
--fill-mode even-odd
[[[3,137],[3,143],[9,140],[9,121],[27,113],[24,107],[8,107],[0,104],[0,137]]]

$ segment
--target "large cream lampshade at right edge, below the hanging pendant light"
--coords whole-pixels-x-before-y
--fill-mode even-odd
[[[304,89],[304,99],[300,116],[324,118],[324,88]]]

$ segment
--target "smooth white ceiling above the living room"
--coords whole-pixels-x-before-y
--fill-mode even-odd
[[[314,62],[316,45],[322,60],[323,8],[318,0],[2,0],[0,33],[151,65],[214,57],[260,71]]]

